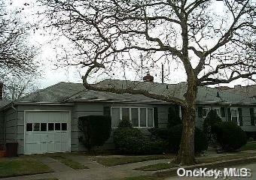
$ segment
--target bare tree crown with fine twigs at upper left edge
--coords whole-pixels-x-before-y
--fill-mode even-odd
[[[20,20],[21,10],[7,10],[9,3],[0,2],[0,73],[31,74],[37,68],[34,61],[37,49],[29,46],[28,40],[32,26]]]

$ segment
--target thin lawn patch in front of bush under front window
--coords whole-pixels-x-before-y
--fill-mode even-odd
[[[167,159],[170,156],[167,155],[151,155],[151,156],[127,156],[127,157],[100,157],[97,158],[98,163],[102,163],[104,166],[116,166],[126,163],[137,163],[148,160]]]

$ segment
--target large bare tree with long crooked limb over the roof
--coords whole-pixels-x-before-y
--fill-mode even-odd
[[[84,87],[103,92],[142,94],[180,104],[183,132],[176,163],[195,163],[194,125],[197,87],[253,80],[256,74],[254,0],[39,0],[49,26],[74,45],[59,61],[87,69]],[[220,6],[220,7],[216,7]],[[122,67],[172,68],[180,62],[187,74],[184,100],[154,95],[150,89],[117,89],[87,83],[88,77],[114,74]],[[157,57],[157,58],[156,58]],[[125,68],[124,68],[125,69]]]

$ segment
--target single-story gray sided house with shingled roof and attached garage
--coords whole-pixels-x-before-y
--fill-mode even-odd
[[[145,89],[151,93],[184,99],[186,83],[161,84],[103,80],[101,87]],[[18,142],[19,154],[84,151],[78,140],[78,118],[111,115],[112,128],[129,118],[134,127],[166,127],[169,108],[181,107],[144,95],[114,94],[84,89],[82,84],[58,83],[14,102],[0,101],[0,144]],[[256,132],[256,101],[234,93],[200,87],[197,95],[197,127],[202,127],[209,110],[215,109],[223,121],[233,121],[243,130]],[[100,133],[100,132],[99,132]],[[112,137],[103,148],[114,148]]]

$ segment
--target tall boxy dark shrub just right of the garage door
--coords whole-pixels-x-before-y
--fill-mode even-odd
[[[90,151],[101,146],[111,133],[111,118],[105,115],[89,115],[78,118],[78,129],[83,133],[79,140]]]

